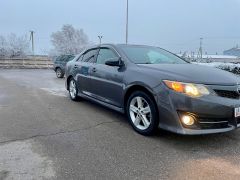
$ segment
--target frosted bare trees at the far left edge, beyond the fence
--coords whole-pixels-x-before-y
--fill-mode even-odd
[[[0,36],[0,56],[20,57],[29,52],[29,42],[27,36],[16,36],[10,34],[7,37]]]

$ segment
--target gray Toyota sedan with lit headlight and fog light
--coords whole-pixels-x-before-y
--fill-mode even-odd
[[[138,133],[208,134],[240,127],[239,78],[158,47],[105,44],[67,64],[66,88],[125,113]]]

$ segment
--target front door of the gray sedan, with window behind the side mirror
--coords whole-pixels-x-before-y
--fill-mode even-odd
[[[119,57],[118,53],[111,48],[100,48],[91,72],[91,85],[92,94],[95,98],[121,107],[123,101],[124,68],[105,65],[106,61]]]

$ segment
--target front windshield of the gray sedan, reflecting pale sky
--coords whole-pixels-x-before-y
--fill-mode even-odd
[[[121,49],[135,64],[186,64],[178,56],[157,47],[123,46]]]

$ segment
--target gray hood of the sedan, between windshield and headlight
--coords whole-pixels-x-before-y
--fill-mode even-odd
[[[200,83],[206,85],[236,85],[239,78],[227,71],[195,64],[141,64],[140,69],[151,70],[162,80]]]

